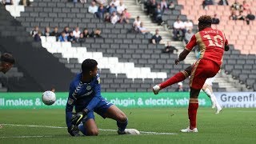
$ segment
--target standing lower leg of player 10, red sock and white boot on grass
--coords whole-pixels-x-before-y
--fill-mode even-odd
[[[181,130],[183,133],[198,132],[197,129],[197,112],[198,112],[198,94],[200,90],[190,88],[190,103],[188,108],[188,115],[190,119],[190,126]]]

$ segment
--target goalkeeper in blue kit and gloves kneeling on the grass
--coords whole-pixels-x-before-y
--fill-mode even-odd
[[[98,135],[94,112],[102,118],[117,121],[118,134],[139,134],[138,130],[126,129],[128,118],[122,110],[107,102],[101,95],[98,63],[94,59],[82,62],[82,73],[70,83],[69,98],[66,102],[66,126],[72,136],[82,134]],[[73,108],[76,113],[73,114]]]

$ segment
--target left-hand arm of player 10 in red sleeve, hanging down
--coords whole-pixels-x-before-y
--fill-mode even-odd
[[[182,51],[181,54],[179,54],[178,59],[175,60],[175,64],[177,65],[178,62],[183,61],[188,54],[190,54],[190,51],[193,49],[194,46],[197,45],[195,35],[190,39],[190,42],[186,45],[185,49]]]

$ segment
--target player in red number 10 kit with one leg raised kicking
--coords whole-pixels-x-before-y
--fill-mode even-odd
[[[198,18],[198,30],[197,34],[190,39],[190,42],[186,45],[185,50],[179,55],[179,58],[175,60],[175,64],[183,61],[187,54],[194,46],[198,45],[200,48],[200,57],[197,62],[186,70],[175,74],[172,78],[166,82],[162,82],[153,87],[154,94],[158,94],[158,91],[170,86],[176,82],[190,76],[190,102],[188,108],[188,115],[190,119],[190,126],[182,132],[198,132],[196,126],[196,116],[198,110],[198,94],[202,89],[202,86],[206,82],[207,78],[214,77],[220,66],[222,65],[222,56],[224,50],[228,50],[228,41],[225,38],[224,33],[221,30],[214,30],[211,28],[212,18],[208,15],[203,15]]]

